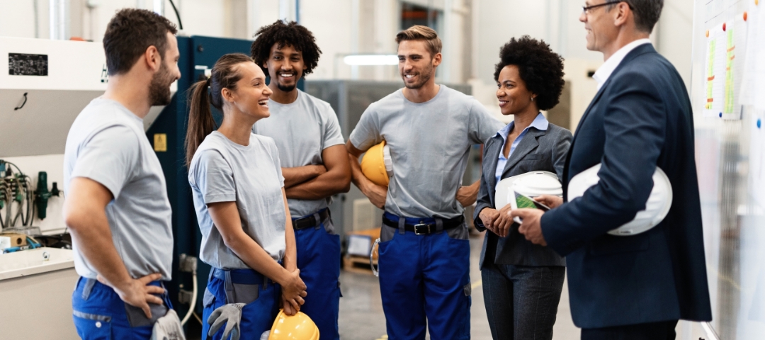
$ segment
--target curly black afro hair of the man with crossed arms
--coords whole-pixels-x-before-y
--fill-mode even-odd
[[[278,44],[278,48],[282,48],[285,45],[295,47],[295,50],[300,51],[303,54],[303,61],[307,67],[303,71],[303,76],[313,72],[314,67],[319,64],[319,54],[321,49],[316,45],[316,38],[308,28],[298,25],[295,21],[285,23],[278,20],[271,25],[263,26],[255,33],[256,39],[252,42],[250,47],[250,55],[255,60],[255,64],[258,64],[263,69],[266,75],[269,74],[269,69],[263,67],[263,64],[269,60],[271,54],[271,47],[274,44]]]

